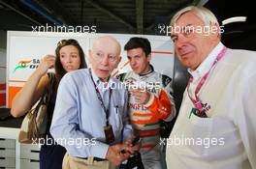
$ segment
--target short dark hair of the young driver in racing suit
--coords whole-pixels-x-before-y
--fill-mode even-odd
[[[151,53],[151,44],[145,38],[133,37],[124,45],[124,50],[131,50],[134,48],[142,48],[146,56]]]

